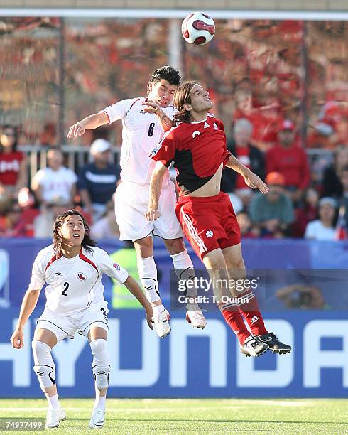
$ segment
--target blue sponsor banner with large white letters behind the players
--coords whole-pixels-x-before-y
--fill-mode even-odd
[[[33,372],[31,339],[35,319],[45,304],[44,291],[26,326],[24,348],[11,348],[9,338],[30,281],[33,260],[49,243],[0,240],[0,299],[9,295],[10,303],[9,308],[0,308],[0,397],[42,397]],[[111,254],[122,244],[104,241],[100,247]],[[344,272],[348,264],[346,242],[246,240],[243,251],[249,269],[305,269],[305,281],[310,269]],[[155,257],[162,272],[161,294],[168,301],[172,262],[161,242],[156,242]],[[194,254],[191,257],[195,267],[202,267]],[[340,308],[344,299],[340,295],[347,299],[343,272],[337,270],[327,281],[315,272],[325,299],[322,311],[285,310],[276,296],[263,301],[260,295],[268,330],[293,345],[290,355],[268,352],[261,358],[245,358],[234,333],[217,311],[207,313],[204,331],[193,329],[182,311],[172,311],[172,333],[160,340],[148,329],[142,310],[111,309],[109,397],[347,397],[348,317],[347,311],[339,311],[344,309],[342,305]],[[296,276],[293,279],[298,281]],[[104,285],[110,301],[112,283],[105,278]],[[298,295],[295,290],[289,299],[291,304],[298,303]],[[53,350],[53,356],[60,396],[92,397],[92,355],[85,338],[77,334],[75,340],[64,340]]]

